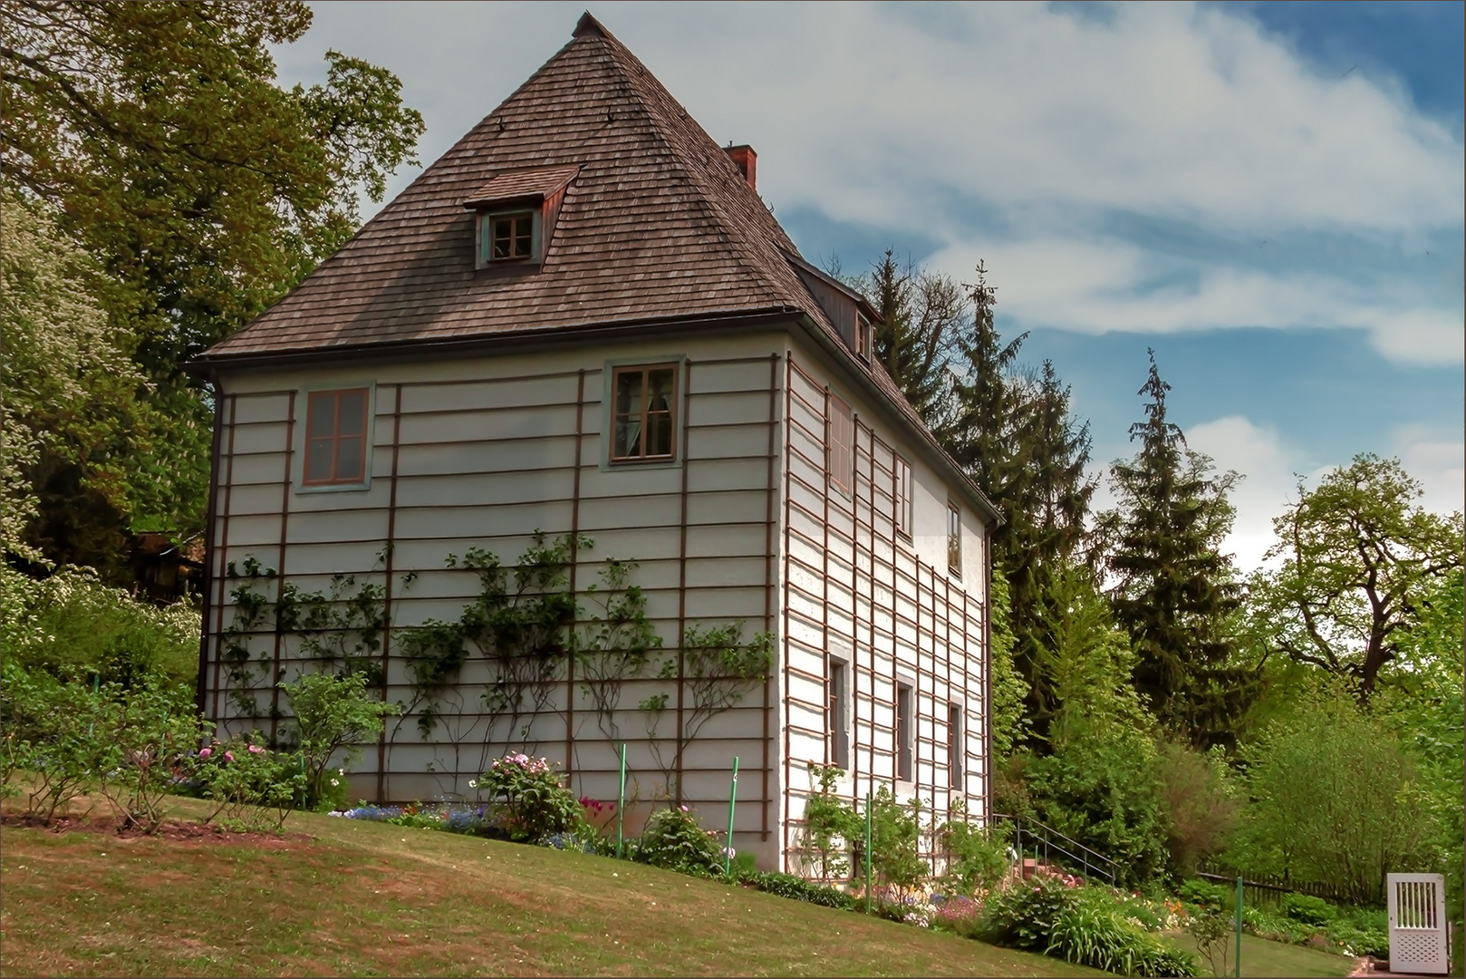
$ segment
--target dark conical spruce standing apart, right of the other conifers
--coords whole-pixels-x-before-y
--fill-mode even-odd
[[[1138,393],[1145,421],[1130,426],[1141,449],[1116,461],[1111,486],[1120,509],[1101,524],[1111,549],[1116,621],[1135,644],[1135,687],[1163,725],[1198,747],[1230,743],[1255,696],[1249,671],[1234,668],[1227,619],[1240,605],[1231,559],[1220,553],[1231,527],[1227,490],[1236,474],[1215,476],[1211,459],[1192,452],[1167,421],[1155,351]]]

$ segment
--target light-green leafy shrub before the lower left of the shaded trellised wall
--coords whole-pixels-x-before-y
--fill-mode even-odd
[[[301,759],[305,766],[305,807],[337,801],[327,790],[331,759],[339,753],[350,760],[361,756],[362,741],[381,732],[384,718],[400,712],[396,703],[372,700],[361,674],[333,677],[305,674],[295,683],[280,684],[295,715]],[[339,793],[336,793],[339,796]]]

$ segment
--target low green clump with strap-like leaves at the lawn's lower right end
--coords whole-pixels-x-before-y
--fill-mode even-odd
[[[1067,887],[1048,876],[1004,888],[984,906],[981,935],[1123,976],[1195,976],[1192,956],[1130,923],[1101,888]]]

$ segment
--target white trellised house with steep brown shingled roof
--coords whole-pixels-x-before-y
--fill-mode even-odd
[[[616,798],[625,744],[642,800],[708,826],[736,756],[734,845],[765,867],[799,866],[811,765],[852,798],[990,812],[998,515],[756,160],[586,15],[194,363],[217,392],[208,718],[280,734],[273,680],[346,665],[408,709],[353,798],[471,798],[512,750]],[[520,593],[496,568],[535,547]],[[597,638],[557,589],[600,625],[630,605]]]

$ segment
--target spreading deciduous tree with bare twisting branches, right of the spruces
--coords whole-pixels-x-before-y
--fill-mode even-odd
[[[1268,558],[1281,568],[1253,584],[1262,628],[1274,649],[1368,700],[1435,583],[1462,568],[1462,514],[1423,509],[1399,459],[1371,454],[1297,493],[1272,521]]]

